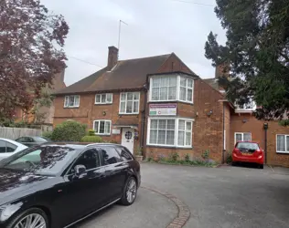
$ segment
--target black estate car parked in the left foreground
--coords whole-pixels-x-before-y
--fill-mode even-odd
[[[114,202],[132,204],[140,183],[140,164],[121,145],[28,148],[0,161],[0,228],[68,227]]]

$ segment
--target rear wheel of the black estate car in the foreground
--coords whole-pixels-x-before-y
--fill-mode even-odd
[[[134,177],[130,177],[123,188],[121,204],[128,206],[134,203],[137,193],[137,182]]]

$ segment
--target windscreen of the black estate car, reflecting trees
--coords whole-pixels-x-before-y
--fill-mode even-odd
[[[54,176],[70,164],[77,151],[67,146],[38,146],[0,161],[0,168]]]

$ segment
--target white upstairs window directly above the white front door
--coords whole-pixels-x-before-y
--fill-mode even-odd
[[[121,93],[120,114],[138,114],[140,103],[139,92]]]

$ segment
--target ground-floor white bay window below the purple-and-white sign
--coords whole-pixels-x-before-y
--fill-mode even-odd
[[[148,119],[147,141],[157,146],[192,146],[192,119]]]

